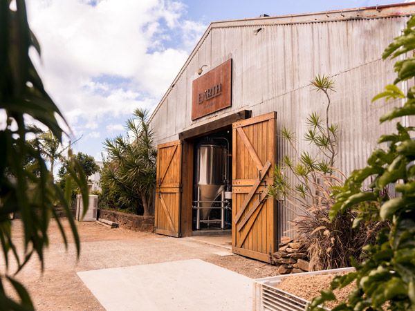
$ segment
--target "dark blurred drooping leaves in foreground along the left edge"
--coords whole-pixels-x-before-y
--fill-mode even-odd
[[[59,142],[64,130],[57,118],[64,121],[62,113],[50,99],[42,80],[33,66],[28,50],[33,46],[40,55],[40,46],[30,31],[24,0],[16,0],[17,9],[10,9],[10,0],[0,0],[0,109],[6,113],[6,127],[0,129],[0,245],[6,261],[6,272],[0,274],[0,308],[4,310],[33,310],[28,292],[15,280],[10,272],[10,254],[17,262],[18,273],[33,254],[37,254],[44,267],[44,247],[48,246],[48,225],[51,216],[56,216],[53,206],[59,200],[74,237],[77,254],[80,240],[77,235],[71,211],[68,208],[69,194],[64,194],[50,176],[42,153],[39,139],[33,144],[26,141],[26,135],[33,133],[26,124],[26,116],[41,122]],[[65,122],[66,123],[66,122]],[[28,169],[27,159],[37,171]],[[33,160],[34,159],[34,160]],[[30,162],[29,161],[29,162]],[[73,161],[68,169],[68,184],[73,180],[80,186],[84,206],[88,205],[88,187],[83,178],[78,178],[73,168],[80,165]],[[10,173],[12,172],[12,173]],[[83,173],[81,172],[82,176]],[[17,252],[12,240],[10,214],[19,213],[24,227],[23,252]],[[66,233],[57,218],[65,245]],[[20,301],[10,299],[4,291],[4,282],[10,282]]]

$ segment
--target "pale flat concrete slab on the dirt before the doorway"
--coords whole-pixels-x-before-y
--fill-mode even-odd
[[[200,259],[77,274],[107,311],[252,310],[252,279]]]

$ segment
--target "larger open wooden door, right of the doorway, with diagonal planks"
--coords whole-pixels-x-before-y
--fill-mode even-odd
[[[277,248],[277,202],[267,198],[276,122],[273,112],[232,125],[232,252],[266,262]]]

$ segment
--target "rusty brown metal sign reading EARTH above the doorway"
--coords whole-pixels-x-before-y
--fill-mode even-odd
[[[193,81],[192,120],[232,105],[232,59]]]

